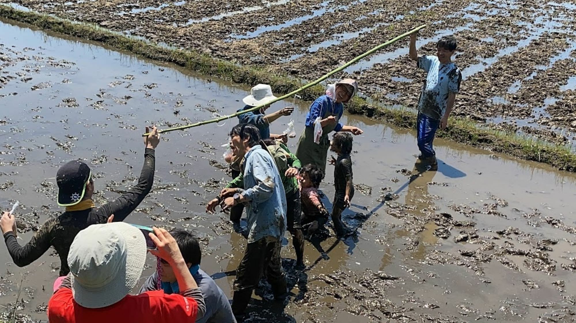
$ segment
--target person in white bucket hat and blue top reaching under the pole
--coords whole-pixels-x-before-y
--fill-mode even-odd
[[[276,99],[276,97],[272,94],[272,88],[270,85],[258,84],[255,87],[252,87],[250,95],[242,99],[242,102],[244,102],[246,106],[237,112],[252,109],[255,106],[266,104],[274,99]],[[257,113],[247,112],[241,114],[238,116],[238,120],[241,124],[246,123],[255,125],[260,131],[260,139],[282,139],[284,143],[287,143],[288,134],[271,134],[270,124],[282,116],[290,116],[290,114],[294,112],[294,107],[285,107],[284,109],[265,115],[264,113],[266,113],[266,110],[268,110],[269,107],[270,105],[268,104],[257,111]]]

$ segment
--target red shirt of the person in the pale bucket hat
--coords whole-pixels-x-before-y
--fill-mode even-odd
[[[196,313],[198,304],[194,299],[180,294],[164,294],[162,290],[127,295],[110,306],[89,309],[74,302],[71,289],[61,288],[48,302],[50,323],[194,323]]]

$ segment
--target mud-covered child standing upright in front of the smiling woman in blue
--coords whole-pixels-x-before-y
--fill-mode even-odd
[[[336,193],[332,206],[332,222],[334,230],[339,237],[346,234],[346,228],[342,223],[342,212],[350,207],[350,201],[354,197],[354,183],[352,181],[352,136],[350,133],[337,132],[332,139],[331,149],[338,153],[338,159],[332,160],[330,164],[334,165],[334,187]]]

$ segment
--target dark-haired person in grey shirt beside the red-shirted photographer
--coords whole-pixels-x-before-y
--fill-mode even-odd
[[[202,251],[200,251],[200,245],[196,237],[184,229],[173,229],[170,234],[176,240],[184,261],[190,268],[192,278],[202,290],[202,296],[206,304],[206,314],[202,318],[196,318],[196,323],[236,323],[228,297],[214,282],[214,279],[200,269]],[[166,294],[180,293],[176,276],[169,264],[161,260],[161,268],[161,286],[158,286],[158,272],[154,272],[146,279],[140,289],[140,293],[153,290],[164,290]]]

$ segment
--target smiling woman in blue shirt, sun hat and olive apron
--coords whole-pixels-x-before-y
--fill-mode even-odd
[[[353,79],[344,79],[333,86],[329,86],[325,95],[317,98],[310,106],[306,115],[304,131],[298,140],[296,156],[301,163],[318,166],[323,172],[326,171],[326,160],[330,140],[328,134],[332,131],[351,132],[355,135],[362,134],[362,130],[355,126],[342,125],[340,118],[344,113],[343,103],[348,103],[358,91],[358,83]],[[322,132],[318,143],[314,142],[314,126],[321,126]]]

